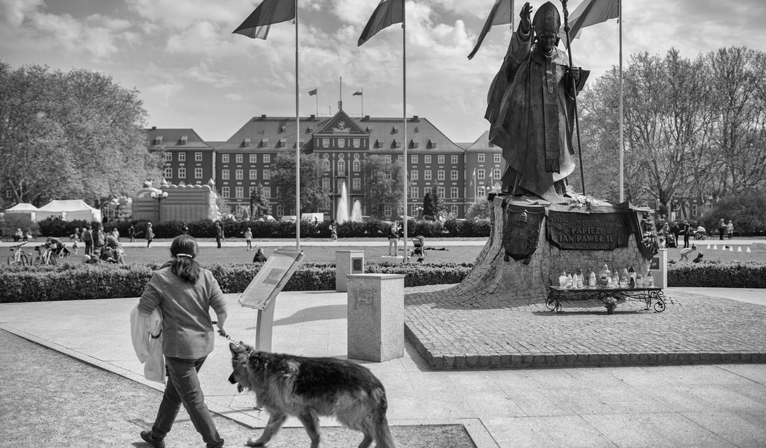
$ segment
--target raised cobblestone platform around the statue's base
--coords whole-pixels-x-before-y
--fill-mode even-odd
[[[444,286],[441,286],[444,288]],[[624,302],[544,302],[476,309],[448,290],[408,288],[405,331],[430,368],[530,368],[766,362],[766,307],[666,294],[664,312]],[[415,294],[413,294],[415,293]]]

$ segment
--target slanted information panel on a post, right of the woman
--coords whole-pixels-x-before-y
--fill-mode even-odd
[[[255,309],[266,309],[269,303],[280,293],[287,280],[293,276],[296,269],[303,263],[303,250],[277,249],[260,267],[258,273],[241,293],[241,306]]]

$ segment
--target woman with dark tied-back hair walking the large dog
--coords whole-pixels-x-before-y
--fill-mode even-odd
[[[214,348],[211,308],[218,318],[218,331],[226,334],[226,299],[213,273],[197,262],[198,252],[194,237],[175,237],[170,244],[171,260],[155,271],[139,299],[140,316],[148,319],[155,308],[162,311],[162,355],[168,382],[152,429],[140,433],[155,448],[164,448],[182,404],[205,445],[224,446],[205,404],[198,372]]]

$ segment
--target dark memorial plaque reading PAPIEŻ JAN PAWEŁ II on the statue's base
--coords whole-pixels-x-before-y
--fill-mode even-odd
[[[627,215],[548,211],[548,241],[562,250],[614,250],[626,247]]]

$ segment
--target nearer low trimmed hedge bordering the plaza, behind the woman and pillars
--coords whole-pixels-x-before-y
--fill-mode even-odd
[[[224,293],[241,293],[261,265],[203,265],[212,271]],[[368,263],[367,273],[404,274],[404,286],[460,283],[472,263]],[[138,297],[158,264],[60,264],[44,267],[0,265],[0,303]],[[766,263],[675,263],[668,267],[669,286],[766,288]],[[305,263],[287,282],[285,291],[335,289],[333,263]]]

